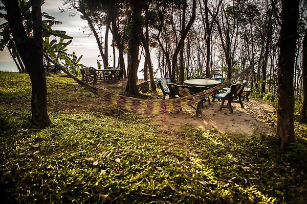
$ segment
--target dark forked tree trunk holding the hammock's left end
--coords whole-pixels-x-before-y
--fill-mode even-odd
[[[24,29],[17,0],[2,0],[18,53],[30,75],[32,85],[32,119],[38,128],[50,125],[47,113],[47,86],[43,75],[42,24],[39,0],[32,0],[34,38],[28,38]]]

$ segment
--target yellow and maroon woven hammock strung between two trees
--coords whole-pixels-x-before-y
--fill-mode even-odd
[[[53,63],[58,69],[66,73],[70,78],[74,79],[79,85],[83,86],[85,89],[93,92],[94,94],[101,97],[104,101],[109,104],[117,105],[120,108],[131,111],[139,114],[164,114],[174,111],[179,111],[182,108],[185,108],[190,105],[196,105],[204,98],[218,92],[226,86],[231,85],[236,79],[244,75],[248,70],[250,70],[257,62],[250,65],[243,72],[237,74],[235,77],[231,78],[227,82],[223,84],[217,85],[211,89],[207,89],[203,92],[196,93],[194,95],[189,95],[181,98],[173,98],[168,100],[163,99],[139,99],[128,96],[123,96],[119,94],[115,94],[103,89],[99,89],[90,84],[87,84],[80,79],[76,78],[74,75],[69,73],[69,71],[63,69],[60,65],[55,63],[53,60],[49,58],[48,55],[44,54],[46,59],[48,59],[51,63]],[[259,61],[259,60],[258,60]]]

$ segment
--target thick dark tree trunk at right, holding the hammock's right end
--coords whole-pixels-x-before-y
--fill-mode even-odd
[[[298,5],[299,0],[282,0],[276,127],[276,135],[281,137],[281,149],[295,141],[293,71],[299,13]]]

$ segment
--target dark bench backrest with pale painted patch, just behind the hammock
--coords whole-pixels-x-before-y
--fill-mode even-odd
[[[167,83],[167,86],[169,88],[169,92],[172,98],[194,95],[195,93],[205,91],[204,86],[187,86],[172,83]]]

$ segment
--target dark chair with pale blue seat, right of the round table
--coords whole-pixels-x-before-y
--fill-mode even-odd
[[[242,93],[243,93],[244,87],[245,87],[245,84],[231,85],[230,90],[228,90],[227,92],[215,94],[213,96],[212,101],[214,101],[215,97],[221,98],[222,104],[220,107],[220,111],[222,110],[223,107],[228,107],[230,110],[230,113],[233,113],[231,103],[238,103],[241,105],[241,108],[244,108],[243,102],[242,102]],[[226,106],[224,106],[225,100],[228,100],[228,103]]]

